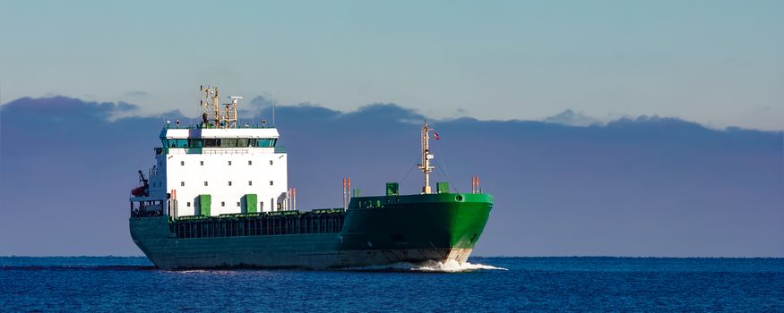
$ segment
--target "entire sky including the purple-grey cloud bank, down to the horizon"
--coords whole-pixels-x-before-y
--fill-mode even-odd
[[[297,206],[340,207],[347,175],[417,192],[426,119],[434,180],[495,197],[476,255],[784,258],[781,1],[0,13],[0,255],[141,255],[136,171],[211,84],[245,97],[240,123],[277,107]]]

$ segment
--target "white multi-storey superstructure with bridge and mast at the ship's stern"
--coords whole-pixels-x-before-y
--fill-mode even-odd
[[[264,122],[237,128],[240,97],[220,105],[218,89],[202,91],[212,100],[202,101],[202,123],[167,123],[159,136],[162,148],[155,149],[156,165],[148,171],[149,188],[134,194],[132,207],[177,217],[292,209],[288,157],[277,147],[278,130]]]

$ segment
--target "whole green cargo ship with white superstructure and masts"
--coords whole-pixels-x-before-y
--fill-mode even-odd
[[[470,193],[430,186],[434,155],[421,129],[421,192],[361,196],[343,179],[343,207],[300,211],[275,125],[237,126],[237,102],[201,88],[201,123],[167,122],[156,164],[131,190],[134,243],[161,269],[383,266],[469,258],[493,208],[472,178]]]

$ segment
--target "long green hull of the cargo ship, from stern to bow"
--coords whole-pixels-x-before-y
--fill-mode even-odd
[[[131,236],[160,268],[373,266],[465,262],[487,224],[487,194],[358,197],[340,232],[177,238],[168,216],[132,217]]]

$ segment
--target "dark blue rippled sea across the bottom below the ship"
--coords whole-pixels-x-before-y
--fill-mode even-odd
[[[2,311],[784,311],[784,258],[470,258],[470,264],[157,270],[0,258]]]

